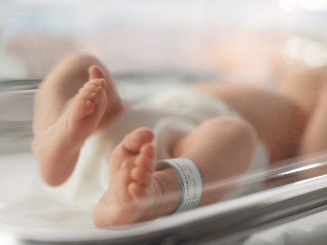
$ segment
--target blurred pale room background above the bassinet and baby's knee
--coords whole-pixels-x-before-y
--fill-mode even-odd
[[[272,86],[327,63],[325,0],[2,0],[0,80],[43,78],[87,52],[114,73]]]

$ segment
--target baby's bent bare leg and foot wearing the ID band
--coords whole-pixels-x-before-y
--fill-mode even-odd
[[[178,208],[180,180],[168,165],[154,171],[152,139],[150,130],[140,128],[114,150],[110,184],[93,214],[97,227],[154,219]],[[247,122],[211,119],[176,142],[172,157],[188,158],[197,164],[204,181],[203,205],[218,201],[230,188],[215,188],[215,181],[246,172],[255,145],[256,133]]]

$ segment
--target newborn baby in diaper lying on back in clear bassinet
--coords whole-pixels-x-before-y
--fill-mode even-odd
[[[175,99],[183,100],[180,97],[186,94],[198,98],[198,104],[209,102],[189,110],[185,101],[182,106],[180,102],[170,104],[169,99],[155,105],[161,95],[154,94],[140,106],[141,111],[148,111],[148,117],[143,125],[147,127],[139,127],[142,125],[132,121],[140,115],[129,113],[134,107],[124,105],[108,71],[96,58],[66,57],[41,83],[35,99],[32,151],[44,182],[63,184],[73,173],[90,135],[106,127],[115,134],[128,122],[130,132],[109,149],[108,188],[93,212],[95,226],[106,227],[221,200],[231,188],[210,188],[210,183],[298,153],[310,114],[296,99],[246,86],[191,86],[180,89]],[[228,113],[220,113],[216,104]],[[211,106],[210,113],[201,116],[206,105]],[[126,113],[129,116],[124,117]],[[149,123],[151,116],[160,120]],[[165,118],[185,118],[186,129],[173,130],[163,137],[166,140],[153,144],[155,137],[162,138],[167,131],[159,130],[161,136],[157,136],[152,126],[157,127],[156,122]],[[166,155],[160,153],[161,148],[166,149]],[[258,154],[261,157],[256,157]],[[194,183],[189,186],[188,181]],[[195,201],[186,205],[190,193]]]

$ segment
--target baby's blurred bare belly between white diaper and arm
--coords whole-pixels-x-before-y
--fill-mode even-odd
[[[298,153],[308,114],[294,99],[251,86],[198,83],[194,87],[223,99],[256,129],[270,151],[270,162]]]

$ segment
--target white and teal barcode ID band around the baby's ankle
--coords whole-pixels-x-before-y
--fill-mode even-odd
[[[157,163],[170,165],[178,174],[182,186],[181,203],[175,213],[195,208],[202,197],[203,180],[200,170],[194,162],[187,158],[159,160]]]

